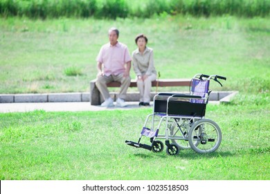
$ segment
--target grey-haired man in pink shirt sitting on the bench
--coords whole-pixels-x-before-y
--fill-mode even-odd
[[[117,28],[109,29],[109,43],[100,48],[98,57],[98,75],[96,87],[104,98],[102,107],[111,107],[114,105],[114,100],[109,96],[107,83],[116,81],[121,83],[120,93],[116,104],[120,107],[125,107],[125,96],[130,85],[129,71],[131,68],[132,58],[129,55],[128,48],[125,44],[118,42],[119,30]]]

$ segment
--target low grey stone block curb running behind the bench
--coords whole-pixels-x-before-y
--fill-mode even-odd
[[[173,93],[173,91],[170,91]],[[179,92],[175,92],[179,93]],[[238,91],[213,91],[209,100],[228,103]],[[111,92],[111,98],[116,100],[118,93]],[[181,94],[189,94],[189,92],[181,92]],[[152,98],[156,93],[152,92]],[[138,92],[128,92],[126,101],[138,101]],[[51,93],[51,94],[0,94],[0,103],[66,103],[66,102],[90,102],[89,92],[74,93]]]

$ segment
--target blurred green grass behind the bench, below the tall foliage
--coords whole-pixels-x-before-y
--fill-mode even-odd
[[[96,56],[108,42],[111,26],[120,29],[119,41],[130,53],[136,49],[136,34],[148,36],[161,78],[220,74],[228,80],[223,88],[213,83],[213,90],[269,92],[269,21],[166,15],[115,21],[0,19],[0,93],[89,91],[89,81],[96,78]],[[71,75],[78,76],[65,72],[70,67],[75,67]]]

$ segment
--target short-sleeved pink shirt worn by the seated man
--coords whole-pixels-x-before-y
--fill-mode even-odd
[[[104,65],[105,76],[110,76],[124,73],[125,64],[132,61],[132,58],[127,46],[117,42],[114,46],[110,43],[103,45],[96,60]]]

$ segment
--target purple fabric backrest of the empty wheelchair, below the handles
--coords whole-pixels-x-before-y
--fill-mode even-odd
[[[206,97],[209,91],[210,80],[192,79],[191,94],[194,96]],[[207,100],[190,99],[190,103],[206,103]]]

